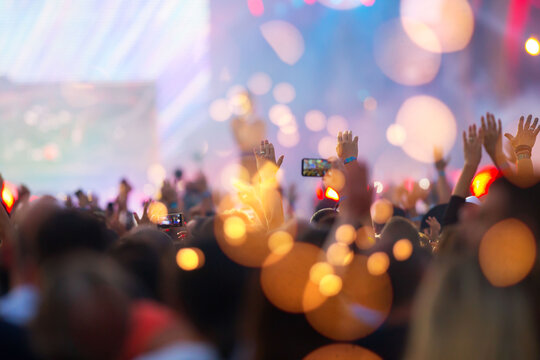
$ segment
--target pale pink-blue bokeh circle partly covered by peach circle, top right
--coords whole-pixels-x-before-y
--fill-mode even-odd
[[[379,27],[373,51],[382,72],[402,85],[427,84],[435,78],[441,66],[441,54],[415,44],[399,20],[391,20]]]

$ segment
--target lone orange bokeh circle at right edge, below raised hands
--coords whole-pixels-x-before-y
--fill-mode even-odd
[[[478,259],[482,272],[494,286],[517,284],[536,261],[534,235],[517,219],[500,221],[483,236]]]

